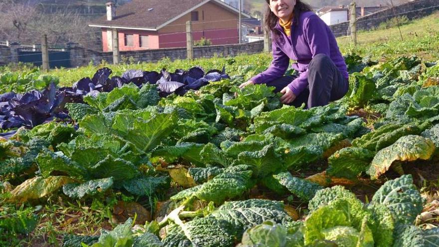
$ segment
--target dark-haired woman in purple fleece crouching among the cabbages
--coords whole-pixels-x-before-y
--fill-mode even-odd
[[[271,31],[273,60],[264,72],[242,83],[265,83],[283,95],[283,104],[327,105],[348,91],[348,72],[331,29],[300,0],[266,0],[265,26]],[[284,76],[289,60],[298,76]]]

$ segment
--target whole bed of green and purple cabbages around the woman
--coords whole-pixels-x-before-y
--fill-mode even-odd
[[[439,64],[345,59],[349,93],[310,110],[239,90],[251,67],[0,95],[1,197],[24,205],[0,211],[2,236],[58,198],[123,223],[63,246],[438,246]]]

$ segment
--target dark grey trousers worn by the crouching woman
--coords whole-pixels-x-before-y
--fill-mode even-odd
[[[297,76],[282,76],[267,82],[267,86],[275,87],[280,92]],[[317,54],[308,66],[308,86],[296,95],[289,105],[296,107],[306,104],[306,108],[327,105],[329,101],[341,99],[349,88],[349,82],[327,55]]]

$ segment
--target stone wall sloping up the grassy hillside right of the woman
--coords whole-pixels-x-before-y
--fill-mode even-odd
[[[358,30],[370,30],[380,23],[398,16],[407,16],[409,19],[421,18],[439,10],[438,0],[414,0],[400,4],[393,8],[387,8],[373,14],[357,19]],[[336,37],[348,35],[349,22],[331,25],[331,30]]]

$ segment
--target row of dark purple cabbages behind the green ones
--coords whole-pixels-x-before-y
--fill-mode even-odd
[[[159,95],[166,97],[176,93],[184,95],[188,90],[198,90],[210,81],[229,78],[222,71],[210,70],[205,73],[201,67],[193,67],[187,71],[177,69],[174,73],[163,69],[156,71],[128,70],[122,77],[113,76],[109,68],[96,71],[93,77],[84,77],[72,87],[62,87],[58,90],[55,84],[50,84],[43,91],[32,90],[24,94],[13,92],[0,94],[0,128],[16,128],[36,125],[51,121],[53,118],[67,118],[66,103],[83,103],[84,95],[97,96],[100,92],[110,92],[116,87],[134,83],[142,87],[144,83],[158,84]]]

